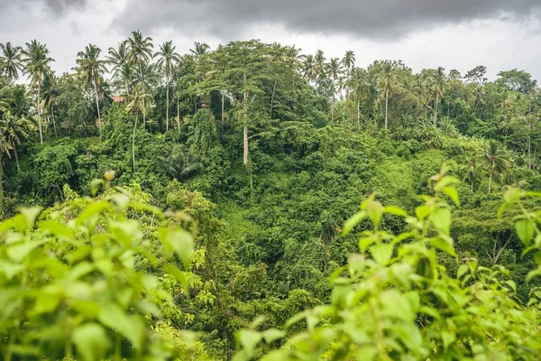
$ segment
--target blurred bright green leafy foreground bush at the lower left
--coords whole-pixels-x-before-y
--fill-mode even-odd
[[[105,177],[93,184],[95,191],[103,186],[97,198],[73,195],[55,208],[26,208],[0,223],[5,360],[202,357],[192,335],[160,323],[154,300],[172,297],[147,271],[167,270],[188,290],[175,259],[188,270],[192,236],[175,226],[179,216],[111,188],[113,174]]]

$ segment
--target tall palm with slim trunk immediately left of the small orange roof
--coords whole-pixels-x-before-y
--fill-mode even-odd
[[[94,44],[88,44],[85,51],[79,51],[77,54],[77,73],[78,77],[82,79],[87,88],[94,88],[94,95],[96,96],[96,108],[97,108],[97,122],[101,132],[101,116],[99,114],[99,94],[97,93],[97,87],[102,79],[102,74],[107,71],[105,69],[105,60],[99,59],[99,49]]]

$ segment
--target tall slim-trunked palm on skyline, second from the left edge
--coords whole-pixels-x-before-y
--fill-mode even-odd
[[[41,81],[46,76],[51,61],[47,46],[32,40],[26,43],[23,53],[23,72],[31,78],[32,86],[37,90],[36,109],[38,112],[38,127],[40,128],[40,143],[43,143],[43,131],[41,129]],[[1,149],[0,149],[1,151]]]

